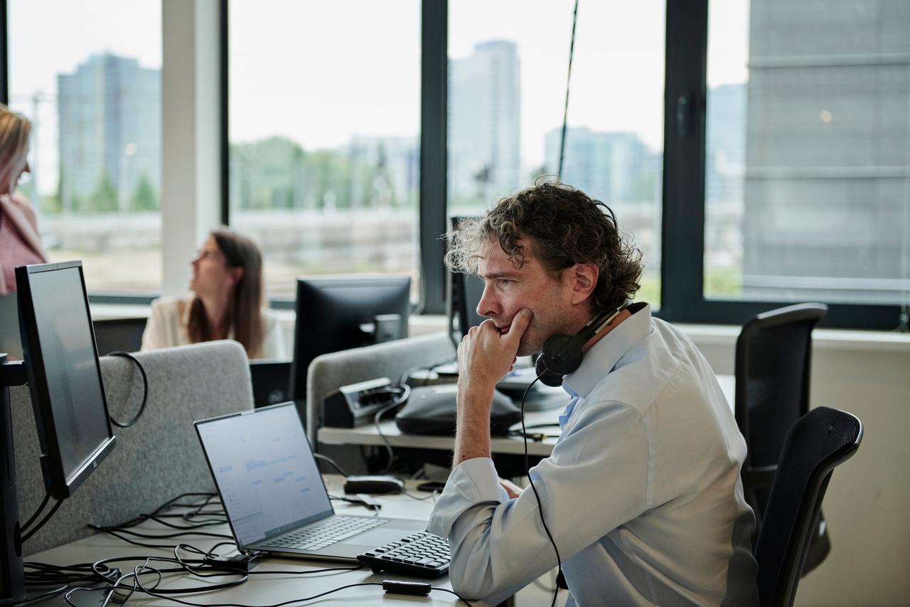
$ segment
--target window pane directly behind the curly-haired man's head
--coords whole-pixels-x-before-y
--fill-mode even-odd
[[[572,0],[449,7],[449,211],[481,213],[560,166]],[[477,15],[484,15],[478,19]],[[622,15],[622,19],[615,18]],[[561,179],[616,213],[660,304],[664,4],[582,4]],[[629,57],[635,57],[630,61]]]

